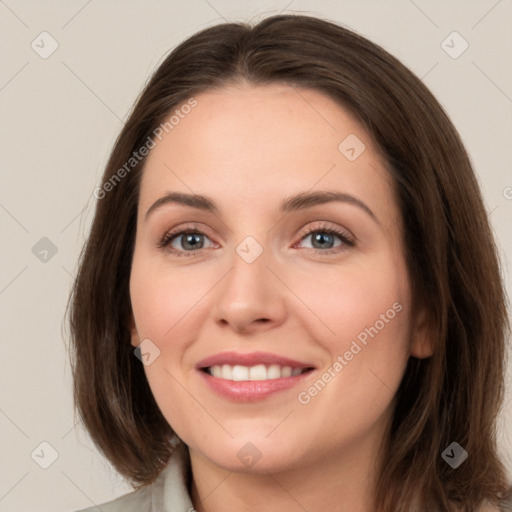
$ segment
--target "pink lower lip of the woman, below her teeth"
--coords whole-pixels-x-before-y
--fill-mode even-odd
[[[202,375],[203,379],[205,379],[208,386],[224,398],[238,402],[254,402],[256,400],[263,400],[279,391],[293,388],[308,377],[312,373],[312,370],[293,377],[242,381],[220,379],[201,370],[199,373]]]

